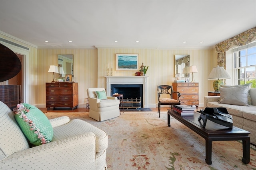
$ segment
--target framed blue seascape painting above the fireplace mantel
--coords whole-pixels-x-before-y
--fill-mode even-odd
[[[138,54],[116,54],[116,70],[138,71]]]

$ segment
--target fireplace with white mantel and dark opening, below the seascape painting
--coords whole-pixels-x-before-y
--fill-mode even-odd
[[[112,96],[114,93],[124,94],[126,98],[137,98],[138,103],[141,100],[140,107],[148,108],[148,76],[105,76],[106,77],[106,93],[107,96]],[[132,88],[132,90],[128,90]],[[120,90],[120,91],[117,91]],[[140,92],[138,92],[140,91]],[[134,93],[138,94],[134,94]],[[130,95],[133,96],[130,96]]]

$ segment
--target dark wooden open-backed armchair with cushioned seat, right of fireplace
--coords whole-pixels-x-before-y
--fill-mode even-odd
[[[169,92],[170,90],[170,92]],[[175,100],[172,98],[172,94],[177,93],[178,94],[178,100]],[[172,106],[175,104],[180,104],[180,92],[175,92],[172,88],[172,86],[169,85],[159,85],[157,86],[157,96],[158,96],[158,110],[157,113],[159,112],[159,117],[160,117],[160,109],[161,105],[171,105]],[[162,97],[162,96],[163,97]],[[170,96],[169,98],[165,98],[167,96]]]

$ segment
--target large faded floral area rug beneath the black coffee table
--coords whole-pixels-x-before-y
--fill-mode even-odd
[[[98,122],[88,113],[46,113],[83,119],[108,133],[108,170],[255,170],[256,150],[250,149],[250,163],[242,163],[242,143],[214,141],[212,165],[205,162],[205,140],[171,117],[167,111],[124,112],[120,117]]]

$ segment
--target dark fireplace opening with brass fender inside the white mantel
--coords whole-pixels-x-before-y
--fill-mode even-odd
[[[124,108],[143,107],[143,85],[142,84],[111,84],[111,95],[123,94]]]

